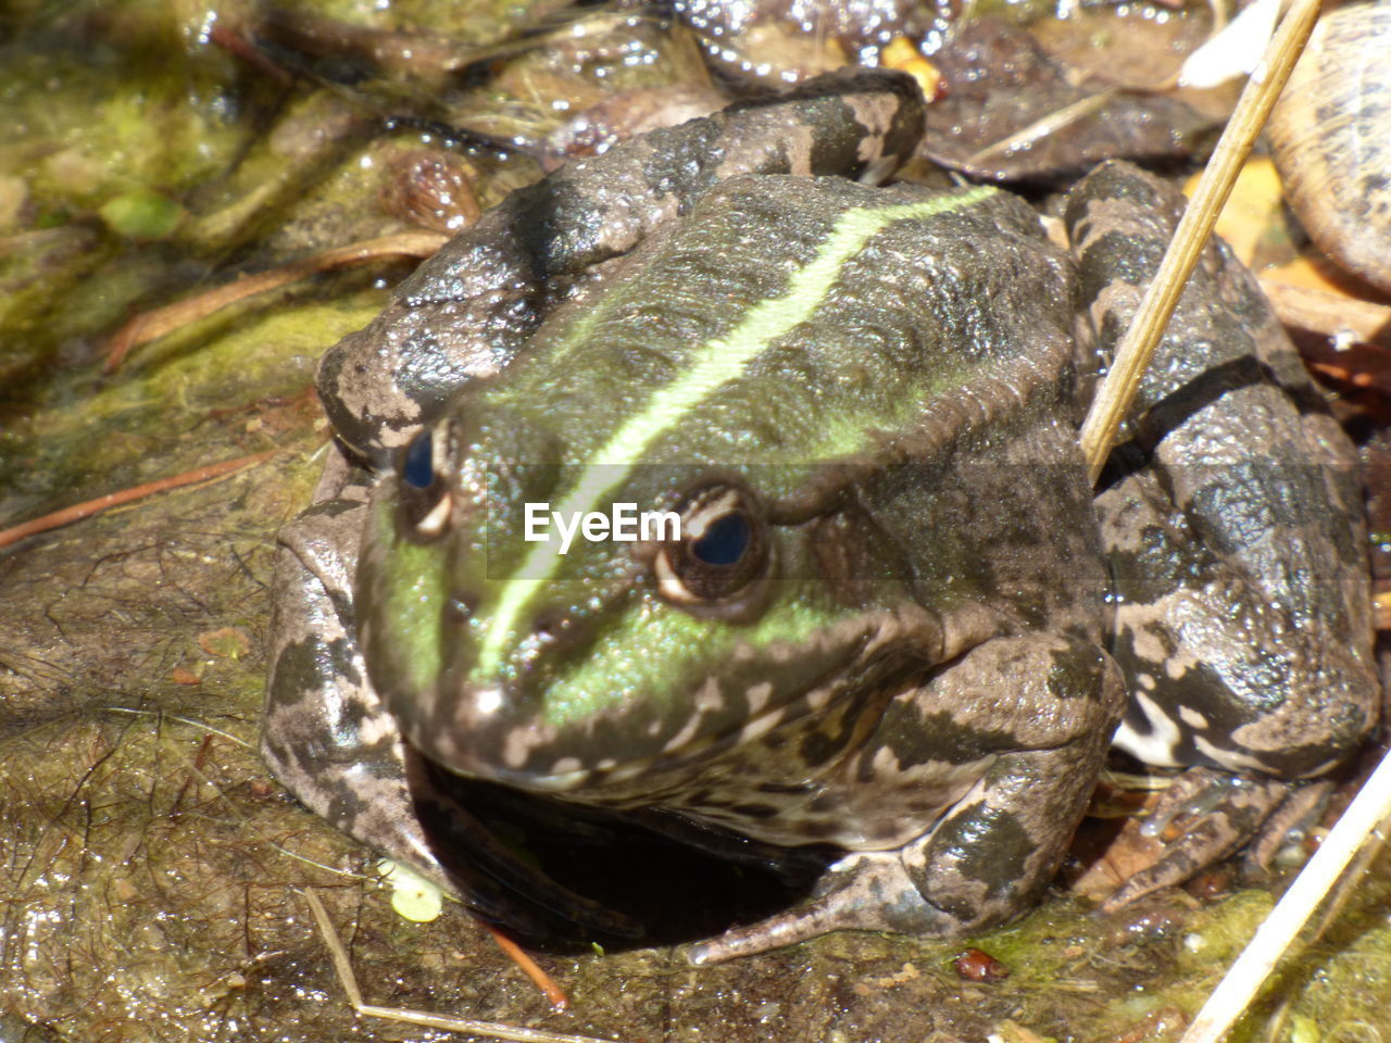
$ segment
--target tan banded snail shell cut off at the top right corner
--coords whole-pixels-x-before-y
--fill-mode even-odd
[[[1309,236],[1391,293],[1391,0],[1319,21],[1269,131]]]

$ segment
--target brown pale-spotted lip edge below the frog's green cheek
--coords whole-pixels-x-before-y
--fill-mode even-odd
[[[753,684],[705,677],[680,700],[683,718],[665,729],[655,715],[583,729],[541,715],[509,722],[508,693],[481,686],[459,693],[448,726],[424,715],[408,736],[455,775],[605,805],[664,804],[689,790],[693,776],[721,782],[739,757],[746,777],[800,782],[817,762],[829,765],[862,743],[881,716],[882,706],[871,704],[921,683],[940,661],[940,624],[917,606],[846,620],[829,637],[836,640],[819,658],[805,648],[776,658],[765,652],[740,672],[764,679]],[[773,733],[778,741],[769,741]]]

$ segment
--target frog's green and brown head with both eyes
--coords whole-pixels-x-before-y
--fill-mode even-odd
[[[549,791],[680,768],[823,711],[924,626],[853,505],[786,508],[808,469],[565,463],[605,456],[537,416],[466,405],[374,499],[363,648],[438,763]]]

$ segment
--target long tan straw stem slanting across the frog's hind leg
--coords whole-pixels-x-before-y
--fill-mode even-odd
[[[1129,330],[1125,331],[1125,338],[1116,349],[1111,371],[1097,391],[1096,401],[1092,402],[1092,409],[1082,424],[1082,455],[1093,484],[1102,474],[1106,456],[1116,442],[1116,431],[1135,399],[1141,377],[1155,355],[1159,338],[1164,335],[1168,317],[1174,313],[1193,266],[1198,264],[1198,256],[1207,245],[1217,214],[1231,195],[1237,172],[1246,161],[1256,135],[1260,134],[1266,117],[1280,96],[1280,89],[1303,51],[1317,17],[1319,0],[1294,0],[1289,6],[1266,57],[1241,92],[1237,108],[1178,223],[1164,260],[1149,284],[1145,299]]]

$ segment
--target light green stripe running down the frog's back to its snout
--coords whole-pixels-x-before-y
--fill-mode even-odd
[[[932,217],[933,214],[961,210],[992,196],[999,189],[979,185],[953,195],[933,196],[917,203],[901,203],[847,210],[832,227],[817,256],[793,273],[787,281],[787,292],[778,298],[766,298],[744,313],[727,335],[707,341],[691,350],[690,366],[670,384],[658,388],[647,406],[623,423],[600,449],[593,463],[608,464],[583,469],[583,478],[565,501],[555,508],[562,516],[572,512],[595,510],[595,503],[604,501],[627,477],[627,469],[638,463],[648,446],[718,388],[740,377],[744,367],[779,337],[793,327],[805,323],[825,300],[825,296],[846,261],[860,253],[865,243],[896,221]],[[606,510],[604,513],[608,513]],[[527,553],[519,576],[506,581],[502,598],[492,615],[487,640],[479,654],[476,674],[487,679],[497,673],[502,661],[502,648],[517,617],[526,609],[536,584],[545,583],[555,574],[561,558],[551,542],[538,542]]]

